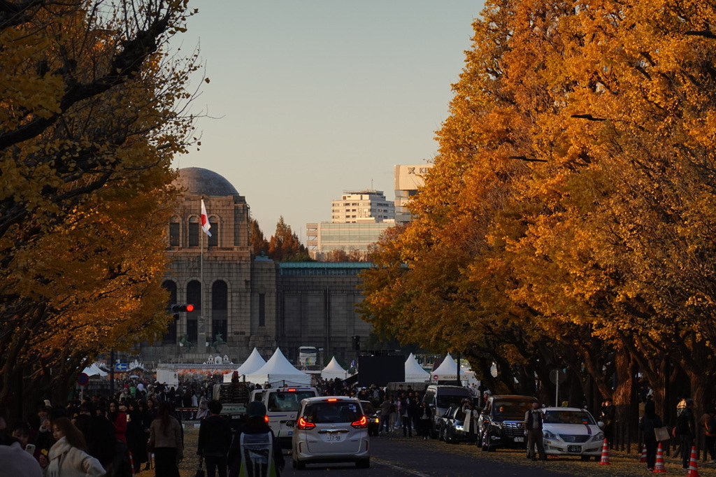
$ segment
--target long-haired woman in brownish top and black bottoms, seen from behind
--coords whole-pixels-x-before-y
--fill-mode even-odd
[[[157,418],[149,428],[147,446],[154,453],[156,477],[179,477],[178,461],[184,458],[181,424],[172,410],[172,403],[160,401]]]

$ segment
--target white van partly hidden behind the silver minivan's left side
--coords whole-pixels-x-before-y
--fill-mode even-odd
[[[294,434],[293,423],[299,410],[301,400],[315,397],[315,387],[271,387],[251,391],[252,401],[261,401],[266,406],[266,416],[274,435],[279,439],[282,448],[291,448],[291,436]]]

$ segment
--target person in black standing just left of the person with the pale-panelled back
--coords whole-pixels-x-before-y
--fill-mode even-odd
[[[221,417],[223,406],[218,400],[208,403],[209,417],[201,420],[197,453],[204,458],[207,477],[226,477],[226,453],[231,446],[231,425]]]

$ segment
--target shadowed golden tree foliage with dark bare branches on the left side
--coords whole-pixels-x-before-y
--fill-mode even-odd
[[[0,5],[0,412],[160,335],[170,162],[193,142],[183,0]],[[64,397],[64,395],[62,395]]]

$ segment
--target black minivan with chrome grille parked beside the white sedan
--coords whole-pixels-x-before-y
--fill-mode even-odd
[[[478,445],[488,451],[500,447],[526,449],[525,413],[536,402],[532,396],[488,397],[478,418]]]

